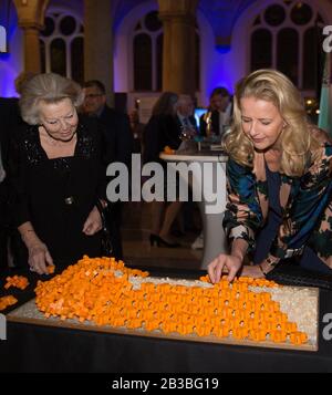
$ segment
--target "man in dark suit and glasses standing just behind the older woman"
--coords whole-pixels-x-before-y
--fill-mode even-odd
[[[133,133],[129,119],[106,104],[106,90],[101,81],[92,80],[84,83],[85,100],[83,112],[98,119],[104,139],[105,165],[121,162],[131,168],[133,152]],[[108,204],[106,220],[111,230],[113,256],[118,260],[123,258],[121,238],[122,204]]]

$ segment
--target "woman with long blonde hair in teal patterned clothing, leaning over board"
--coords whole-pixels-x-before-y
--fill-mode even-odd
[[[280,72],[259,70],[236,87],[234,124],[225,137],[229,254],[208,267],[262,278],[286,258],[332,273],[332,143],[308,123],[302,98]],[[255,266],[243,267],[246,256]],[[286,264],[286,263],[284,263]]]

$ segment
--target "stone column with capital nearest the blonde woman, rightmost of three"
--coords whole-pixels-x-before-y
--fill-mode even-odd
[[[198,0],[158,0],[164,24],[163,91],[195,95]]]

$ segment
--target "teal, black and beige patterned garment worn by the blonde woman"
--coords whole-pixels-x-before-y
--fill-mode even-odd
[[[301,177],[267,175],[262,154],[255,153],[253,167],[227,163],[228,205],[224,228],[231,243],[248,242],[248,253],[259,251],[272,260],[301,256],[318,258],[332,269],[332,142],[321,129],[312,131],[320,147]],[[277,179],[276,179],[277,177]],[[274,179],[274,183],[273,183]],[[276,197],[279,199],[276,200]],[[274,210],[274,211],[273,211]],[[269,225],[272,220],[273,226]],[[271,227],[271,228],[270,228]],[[264,233],[269,230],[267,233]],[[272,231],[273,229],[273,231]],[[257,246],[259,235],[262,238]],[[263,243],[263,245],[262,245]],[[310,248],[310,249],[309,249]],[[260,256],[260,258],[261,258]],[[258,261],[258,256],[257,260]],[[326,268],[325,268],[326,266]]]

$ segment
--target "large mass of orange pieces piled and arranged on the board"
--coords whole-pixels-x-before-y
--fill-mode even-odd
[[[133,288],[129,276],[143,281],[141,289]],[[203,288],[155,284],[147,277],[147,272],[127,269],[112,258],[84,257],[61,276],[39,281],[35,303],[46,318],[89,320],[97,325],[255,342],[308,341],[270,293],[248,289],[278,287],[273,282],[239,278],[229,283],[222,278],[218,284]],[[200,280],[207,282],[208,278]]]

